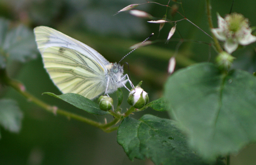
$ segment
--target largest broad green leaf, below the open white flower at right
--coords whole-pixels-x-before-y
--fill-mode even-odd
[[[221,73],[210,63],[181,69],[165,84],[170,114],[205,158],[238,152],[256,141],[256,78]]]

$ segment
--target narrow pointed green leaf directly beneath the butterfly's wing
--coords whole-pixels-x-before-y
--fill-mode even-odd
[[[49,94],[50,96],[62,99],[63,101],[70,103],[73,106],[80,108],[83,111],[86,111],[91,114],[97,114],[97,115],[109,114],[109,112],[102,111],[98,104],[96,104],[95,102],[91,101],[86,97],[81,96],[80,94],[66,93],[66,94],[56,95],[51,92],[45,92],[43,94]]]

